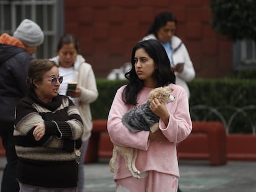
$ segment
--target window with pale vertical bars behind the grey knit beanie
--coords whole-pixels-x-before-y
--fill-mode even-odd
[[[23,19],[30,19],[40,25],[45,40],[38,48],[35,58],[46,59],[55,56],[59,36],[63,33],[63,0],[0,1],[0,34],[13,35]]]

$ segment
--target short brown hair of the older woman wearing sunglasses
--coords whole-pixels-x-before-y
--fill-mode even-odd
[[[48,59],[33,59],[28,65],[28,88],[34,90],[36,86],[33,81],[40,82],[43,80],[43,76],[46,72],[51,70],[54,66],[58,65],[54,61]]]

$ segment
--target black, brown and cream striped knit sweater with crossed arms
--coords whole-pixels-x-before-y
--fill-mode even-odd
[[[45,122],[45,136],[36,141],[33,125],[42,121]],[[67,96],[58,95],[46,104],[30,90],[15,110],[19,181],[45,188],[77,186],[78,165],[74,150],[80,148],[82,134],[79,111]]]

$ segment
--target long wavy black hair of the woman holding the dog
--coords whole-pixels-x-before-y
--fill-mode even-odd
[[[142,90],[144,81],[140,80],[135,72],[135,52],[137,49],[144,49],[148,56],[153,59],[154,64],[158,68],[153,72],[152,77],[156,80],[156,86],[166,86],[169,83],[175,83],[175,74],[171,70],[169,58],[164,50],[163,46],[158,40],[145,40],[137,43],[132,49],[131,64],[132,68],[125,74],[125,77],[129,80],[127,86],[122,92],[122,100],[126,104],[137,104],[137,94]]]

